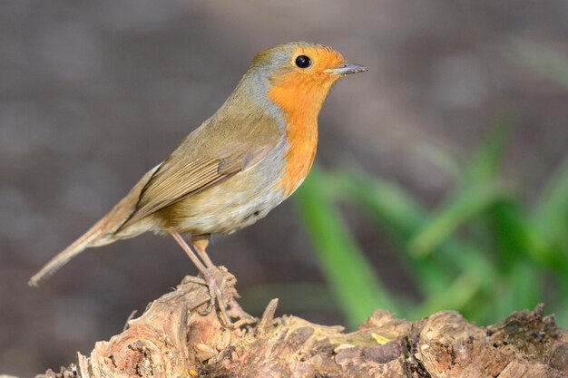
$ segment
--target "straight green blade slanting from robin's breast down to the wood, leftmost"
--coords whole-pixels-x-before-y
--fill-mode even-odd
[[[312,169],[295,197],[323,273],[349,325],[359,324],[377,308],[397,312],[395,301],[377,279],[338,210],[328,200],[325,180],[317,167]]]

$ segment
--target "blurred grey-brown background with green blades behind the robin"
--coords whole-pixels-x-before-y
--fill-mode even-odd
[[[214,239],[241,304],[354,327],[374,308],[568,326],[568,3],[0,2],[0,373],[88,354],[196,269],[168,237],[27,279],[216,111],[255,53],[328,44],[318,163]]]

